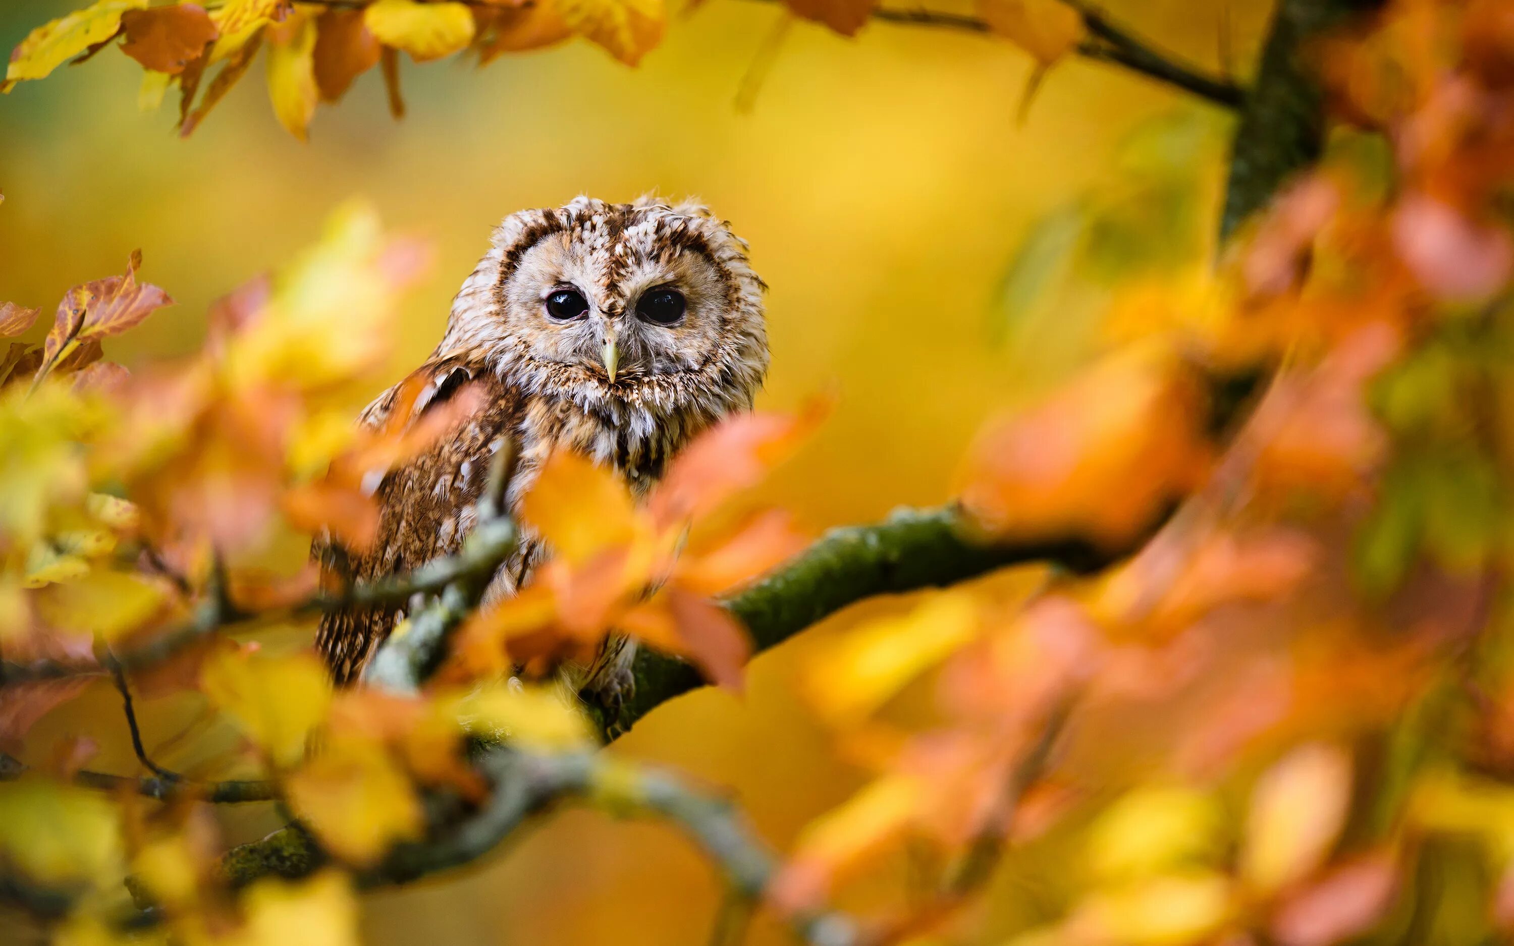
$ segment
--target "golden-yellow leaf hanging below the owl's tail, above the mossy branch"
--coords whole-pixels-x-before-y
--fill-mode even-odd
[[[335,737],[285,780],[295,813],[321,843],[353,864],[372,864],[421,831],[421,802],[382,743]]]

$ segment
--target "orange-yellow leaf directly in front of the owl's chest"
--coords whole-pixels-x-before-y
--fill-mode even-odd
[[[613,472],[575,453],[559,450],[521,503],[521,516],[572,565],[606,548],[628,545],[637,534],[631,493]]]

